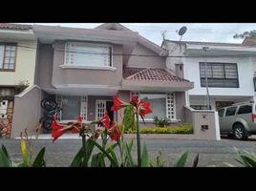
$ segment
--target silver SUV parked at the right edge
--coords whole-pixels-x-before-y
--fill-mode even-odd
[[[221,134],[243,140],[256,135],[256,103],[236,103],[219,110]]]

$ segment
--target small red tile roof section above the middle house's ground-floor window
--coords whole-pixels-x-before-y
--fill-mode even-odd
[[[130,75],[129,75],[130,74]],[[170,74],[165,69],[148,68],[124,68],[123,77],[128,80],[146,81],[188,81],[176,75]]]

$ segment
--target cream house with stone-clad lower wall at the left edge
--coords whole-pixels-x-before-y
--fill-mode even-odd
[[[0,138],[11,135],[13,96],[34,84],[36,48],[32,26],[0,23]]]

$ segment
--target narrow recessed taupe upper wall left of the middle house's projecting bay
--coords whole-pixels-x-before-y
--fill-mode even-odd
[[[38,59],[38,85],[41,88],[53,88],[53,46],[52,44],[40,44]]]

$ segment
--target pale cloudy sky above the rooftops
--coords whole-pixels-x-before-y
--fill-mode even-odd
[[[30,23],[31,24],[31,23]],[[101,23],[34,23],[37,25],[63,26],[93,29]],[[234,39],[235,33],[256,30],[256,23],[120,23],[132,31],[139,32],[143,37],[161,45],[161,32],[165,38],[180,40],[177,31],[185,26],[187,31],[181,40],[241,43],[243,39]]]

